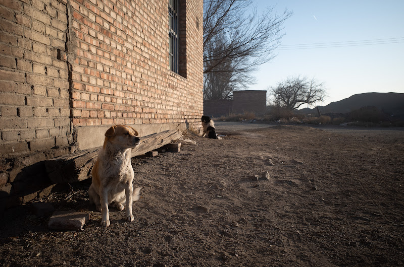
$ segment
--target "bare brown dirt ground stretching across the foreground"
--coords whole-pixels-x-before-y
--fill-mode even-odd
[[[404,265],[403,129],[254,125],[218,122],[223,140],[188,135],[180,153],[134,158],[134,222],[111,208],[100,227],[89,181],[44,199],[90,213],[81,231],[8,210],[0,264]]]

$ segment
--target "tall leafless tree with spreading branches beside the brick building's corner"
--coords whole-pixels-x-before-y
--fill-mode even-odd
[[[282,14],[258,14],[253,0],[204,0],[204,98],[231,98],[254,83],[251,73],[268,62],[280,44]]]

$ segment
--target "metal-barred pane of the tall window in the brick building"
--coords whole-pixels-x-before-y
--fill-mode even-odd
[[[178,0],[169,1],[168,14],[170,69],[178,73]]]

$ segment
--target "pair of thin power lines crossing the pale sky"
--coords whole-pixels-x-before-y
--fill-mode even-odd
[[[372,39],[372,40],[360,40],[360,41],[280,45],[277,50],[349,47],[349,46],[392,44],[392,43],[403,43],[403,42],[404,42],[404,37],[397,37],[397,38]]]

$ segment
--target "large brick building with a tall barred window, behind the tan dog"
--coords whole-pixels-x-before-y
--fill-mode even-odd
[[[200,127],[203,0],[178,0],[175,72],[171,2],[1,1],[0,157],[102,145],[112,124],[133,125],[142,136]],[[15,176],[2,174],[0,198],[16,192]]]

